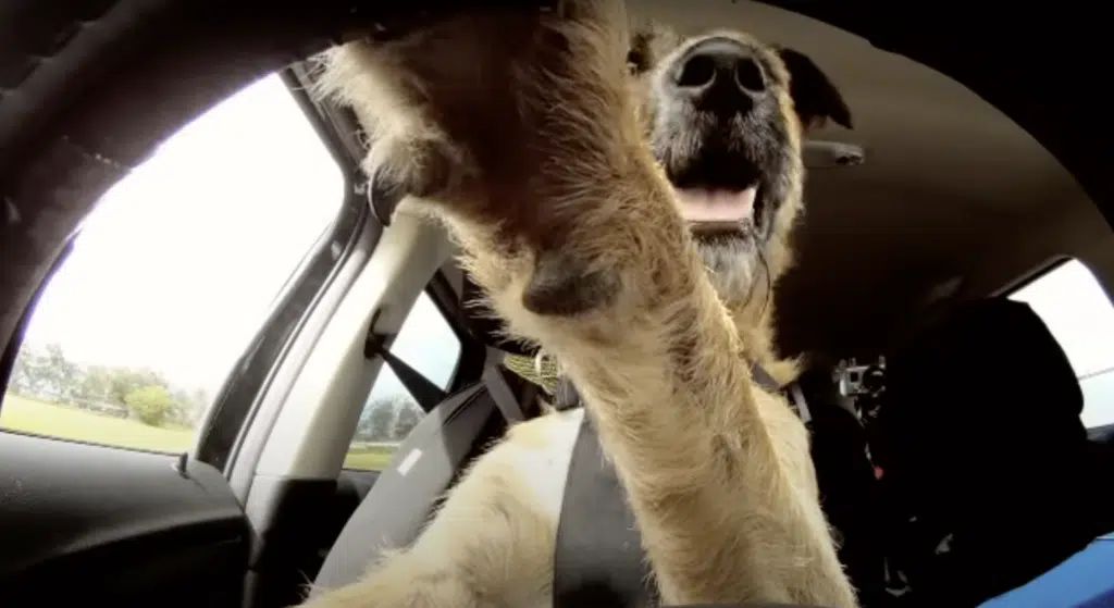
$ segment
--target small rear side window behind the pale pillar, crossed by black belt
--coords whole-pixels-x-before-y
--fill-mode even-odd
[[[394,356],[444,390],[460,363],[460,339],[426,292],[418,296],[391,344]],[[344,468],[382,471],[423,415],[426,412],[384,363],[360,413]]]

